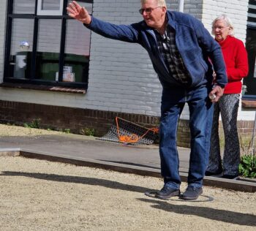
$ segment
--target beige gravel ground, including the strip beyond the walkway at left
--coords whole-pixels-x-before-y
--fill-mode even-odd
[[[51,132],[1,124],[0,130],[0,136]],[[255,193],[205,186],[191,202],[144,194],[161,187],[159,178],[1,156],[1,231],[256,230]]]

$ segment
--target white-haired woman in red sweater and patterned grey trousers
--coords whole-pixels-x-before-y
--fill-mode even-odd
[[[206,175],[233,179],[238,176],[240,146],[237,115],[241,94],[241,80],[248,73],[247,53],[241,40],[234,37],[233,25],[227,15],[220,15],[212,23],[212,34],[222,48],[227,68],[227,86],[219,102],[214,105],[211,130],[211,149]],[[223,159],[219,147],[219,113],[225,135]]]

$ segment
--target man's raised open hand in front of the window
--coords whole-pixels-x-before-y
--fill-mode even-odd
[[[90,24],[91,23],[91,16],[86,8],[81,7],[76,1],[72,1],[69,3],[69,7],[67,7],[67,12],[69,17],[75,18],[82,23]]]

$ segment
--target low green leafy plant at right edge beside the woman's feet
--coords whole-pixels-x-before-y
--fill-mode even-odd
[[[241,156],[238,170],[244,177],[256,178],[256,156],[253,154]]]

